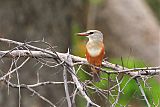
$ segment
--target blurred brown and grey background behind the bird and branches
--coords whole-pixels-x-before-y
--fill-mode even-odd
[[[0,0],[0,37],[21,42],[44,39],[57,46],[58,52],[67,52],[70,48],[72,54],[84,57],[86,39],[75,34],[89,29],[97,29],[104,34],[107,60],[121,64],[122,57],[127,67],[160,65],[159,0]],[[6,44],[1,45],[1,49],[5,50],[4,46],[7,47]],[[63,81],[61,68],[51,70],[43,67],[39,70],[40,65],[32,67],[34,63],[31,60],[22,69],[22,83],[35,83],[37,71],[40,72],[40,80]],[[10,61],[1,62],[1,70],[5,72],[9,64]],[[150,82],[154,90],[160,88],[157,85],[159,76]],[[0,86],[0,107],[17,107],[18,90],[10,89],[8,94],[6,89],[7,86]],[[36,90],[57,103],[58,107],[66,107],[66,101],[58,103],[65,96],[63,85]],[[122,96],[121,104],[126,104],[132,96],[133,85],[126,90],[130,94]],[[49,107],[26,90],[21,94],[22,107]],[[150,99],[155,103],[160,101],[158,94],[160,91],[147,93],[148,96],[156,96]],[[136,101],[133,98],[129,104],[135,107]],[[138,103],[139,107],[145,106],[144,101]],[[83,105],[79,104],[79,107]]]

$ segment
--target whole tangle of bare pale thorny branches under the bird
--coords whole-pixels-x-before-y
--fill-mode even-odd
[[[93,66],[93,65],[90,65],[85,58],[71,55],[71,54],[69,54],[69,52],[68,53],[56,52],[51,45],[49,45],[47,42],[44,42],[44,41],[38,41],[38,42],[43,42],[49,48],[43,49],[43,48],[39,48],[39,47],[30,45],[31,42],[22,43],[22,42],[17,42],[17,41],[13,41],[13,40],[9,40],[9,39],[4,39],[4,38],[0,38],[0,42],[6,42],[9,44],[17,45],[15,48],[13,48],[11,50],[0,51],[0,58],[1,59],[2,58],[13,58],[14,59],[17,57],[25,57],[26,58],[20,65],[16,65],[16,67],[14,69],[12,69],[12,65],[14,63],[12,63],[8,73],[6,73],[0,77],[0,81],[4,81],[6,84],[8,84],[8,86],[13,87],[13,88],[18,88],[19,94],[20,94],[20,89],[25,88],[25,89],[31,91],[32,93],[34,93],[35,95],[37,95],[40,99],[42,99],[45,102],[47,102],[48,104],[50,104],[50,106],[56,107],[55,104],[53,104],[47,98],[43,97],[40,93],[38,93],[33,88],[39,87],[39,86],[45,86],[48,84],[54,84],[54,85],[64,84],[68,107],[72,107],[72,105],[75,103],[75,101],[74,101],[75,96],[79,92],[80,92],[80,95],[83,98],[85,98],[85,100],[87,102],[87,107],[90,107],[90,106],[100,107],[98,104],[93,102],[92,98],[89,96],[88,89],[99,93],[99,95],[101,95],[101,97],[105,98],[106,101],[107,101],[107,99],[110,99],[110,98],[107,98],[107,94],[109,94],[111,96],[111,98],[114,100],[114,102],[112,102],[112,107],[115,107],[118,104],[120,94],[123,93],[125,86],[130,82],[130,80],[135,79],[135,81],[137,82],[137,85],[139,86],[141,94],[142,94],[144,100],[146,101],[147,106],[150,107],[150,103],[149,103],[149,101],[145,95],[145,92],[139,82],[139,79],[146,78],[148,76],[159,75],[160,74],[160,66],[128,69],[124,66],[112,64],[108,61],[103,61],[103,63],[102,63],[103,68],[96,67],[96,69],[98,69],[104,73],[107,73],[109,75],[113,74],[113,75],[117,75],[117,76],[115,78],[115,81],[114,80],[108,81],[108,82],[113,83],[113,85],[111,87],[108,87],[109,88],[108,90],[107,89],[100,89],[100,88],[96,87],[92,81],[85,81],[85,82],[80,81],[79,77],[76,75],[75,66],[80,65],[80,67],[77,69],[77,71],[81,70],[83,65]],[[38,80],[38,82],[36,84],[29,85],[29,84],[20,84],[20,81],[17,77],[18,84],[12,83],[10,81],[10,78],[12,78],[10,75],[13,73],[17,73],[17,76],[19,76],[18,70],[21,69],[25,65],[25,63],[27,63],[28,60],[31,58],[34,58],[35,60],[37,60],[39,63],[42,64],[42,66],[45,65],[50,68],[62,66],[64,68],[63,69],[64,82],[53,82],[53,81],[39,82],[39,80]],[[52,59],[54,61],[52,61],[52,60],[49,61],[49,60],[46,60],[45,58]],[[112,70],[109,71],[104,68],[110,68]],[[68,71],[68,73],[71,75],[73,81],[67,81],[67,72],[66,71]],[[86,74],[92,75],[88,72],[86,72]],[[121,86],[120,86],[120,84],[123,81],[123,78],[120,80],[118,79],[118,75],[120,75],[120,74],[123,74],[123,75],[125,74],[125,75],[131,76],[131,78],[126,82],[126,84],[124,85],[123,88],[121,88]],[[107,81],[106,78],[102,78],[102,79]],[[108,79],[108,80],[110,80],[110,79]],[[76,88],[75,88],[73,94],[69,93],[68,84],[75,85]],[[112,93],[112,91],[115,91],[115,90],[117,90],[116,95],[114,95],[114,93]],[[19,95],[19,97],[20,97],[20,95]],[[71,101],[71,97],[72,97],[72,101]],[[19,98],[19,106],[20,106],[20,100],[21,99]],[[110,100],[109,100],[109,102],[111,103]]]

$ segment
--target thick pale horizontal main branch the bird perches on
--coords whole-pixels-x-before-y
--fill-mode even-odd
[[[21,56],[21,57],[36,57],[36,58],[53,58],[52,55],[47,54],[45,52],[29,51],[29,50],[13,50],[12,52],[10,52],[10,51],[0,51],[0,56],[2,56],[4,54],[5,54],[4,57],[18,57],[18,56]],[[58,53],[57,52],[57,54],[61,59],[65,59],[67,57],[67,55],[65,53]],[[85,58],[80,58],[78,56],[73,56],[73,55],[71,55],[71,57],[72,57],[73,61],[77,62],[76,64],[90,65],[90,64],[88,64],[88,62]],[[63,63],[63,61],[62,61],[62,63]],[[53,67],[61,65],[62,63],[54,65]],[[126,73],[126,74],[131,75],[131,76],[135,76],[135,75],[136,76],[159,75],[160,74],[160,66],[128,69],[128,68],[125,68],[125,67],[122,67],[122,66],[119,66],[119,65],[116,65],[116,64],[109,63],[107,61],[103,62],[102,64],[103,64],[103,66],[111,68],[111,69],[116,70],[116,71],[106,71],[106,70],[104,70],[102,68],[99,68],[99,67],[96,67],[96,69],[99,69],[102,72],[110,73],[110,74]],[[90,65],[90,66],[92,66],[92,65]]]

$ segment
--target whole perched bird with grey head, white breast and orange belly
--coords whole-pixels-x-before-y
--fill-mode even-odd
[[[103,34],[99,30],[88,30],[86,32],[77,33],[78,36],[86,36],[89,40],[86,43],[86,59],[91,66],[93,73],[93,81],[100,81],[100,70],[102,60],[105,55],[105,47],[103,43]]]

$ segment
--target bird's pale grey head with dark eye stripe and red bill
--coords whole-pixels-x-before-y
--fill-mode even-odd
[[[86,36],[89,41],[103,41],[103,34],[98,30],[88,30],[87,32],[77,33],[78,36]]]

